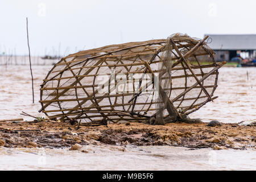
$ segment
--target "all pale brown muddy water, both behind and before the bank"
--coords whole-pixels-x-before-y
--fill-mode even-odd
[[[0,119],[19,118],[22,111],[38,113],[39,86],[52,65],[33,65],[35,104],[32,104],[28,65],[0,67]],[[248,73],[248,74],[247,74]],[[248,76],[247,76],[248,75]],[[256,68],[221,68],[214,102],[189,115],[205,122],[256,121]],[[23,117],[31,120],[31,118]],[[189,150],[170,146],[84,146],[68,149],[0,147],[0,169],[24,170],[256,170],[255,150]]]

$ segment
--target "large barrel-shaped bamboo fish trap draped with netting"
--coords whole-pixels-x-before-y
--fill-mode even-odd
[[[164,118],[188,115],[217,98],[218,69],[225,63],[216,63],[207,38],[174,34],[63,57],[43,80],[39,111],[62,121],[144,122],[155,116],[164,93],[174,111],[164,105]]]

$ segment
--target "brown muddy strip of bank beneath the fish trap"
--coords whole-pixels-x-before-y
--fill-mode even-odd
[[[75,144],[110,144],[245,150],[256,148],[255,127],[234,123],[222,123],[215,127],[209,127],[207,123],[169,123],[166,126],[118,123],[81,126],[77,130],[77,124],[71,125],[68,122],[0,122],[0,146],[70,148]]]

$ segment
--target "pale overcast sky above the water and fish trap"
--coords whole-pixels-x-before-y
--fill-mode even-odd
[[[254,0],[1,0],[0,53],[28,54],[26,17],[32,55],[67,55],[176,32],[256,34],[255,8]]]

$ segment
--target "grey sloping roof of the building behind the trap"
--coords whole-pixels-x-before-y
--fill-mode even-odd
[[[208,46],[214,50],[256,50],[256,34],[217,35],[205,34],[212,38]],[[210,42],[210,40],[209,40]]]

